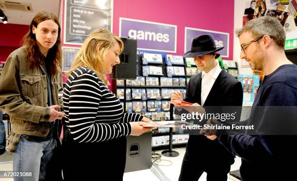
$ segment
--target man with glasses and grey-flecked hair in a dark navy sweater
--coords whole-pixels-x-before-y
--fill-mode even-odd
[[[240,122],[255,125],[255,129],[245,134],[207,130],[207,137],[217,137],[220,144],[242,158],[243,181],[296,180],[296,166],[292,165],[297,163],[297,65],[285,55],[283,27],[276,18],[263,16],[236,33],[241,59],[248,61],[252,70],[265,74],[249,119]]]

